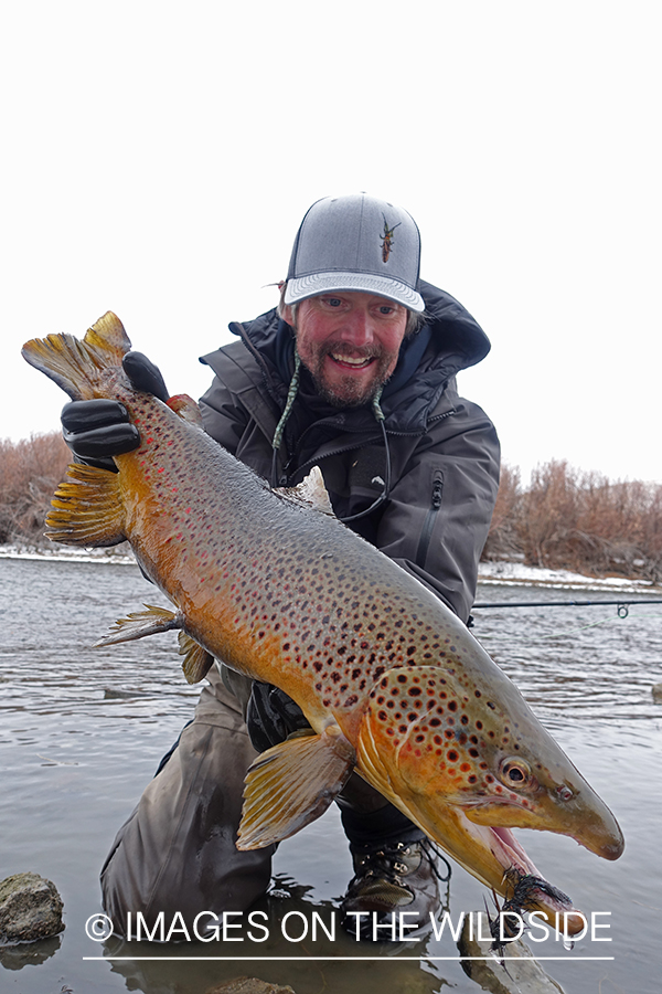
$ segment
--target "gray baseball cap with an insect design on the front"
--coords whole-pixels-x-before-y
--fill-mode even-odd
[[[409,310],[425,310],[416,289],[420,234],[407,211],[366,193],[324,197],[301,222],[285,303],[330,290],[376,294]]]

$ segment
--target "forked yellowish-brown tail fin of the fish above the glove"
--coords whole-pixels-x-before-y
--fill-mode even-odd
[[[81,341],[73,335],[47,335],[26,341],[21,353],[30,366],[45,373],[72,400],[95,396],[95,383],[105,369],[121,368],[131,342],[119,318],[108,310]]]

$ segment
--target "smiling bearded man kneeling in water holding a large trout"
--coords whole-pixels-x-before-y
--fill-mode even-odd
[[[279,308],[231,325],[239,341],[203,358],[215,378],[201,409],[209,434],[273,486],[319,466],[335,514],[467,621],[499,446],[485,414],[458,396],[455,374],[490,346],[457,300],[420,281],[419,256],[406,211],[364,193],[314,203]],[[129,355],[136,385],[166,399],[158,370]],[[138,444],[120,406],[65,408],[78,457]],[[201,911],[244,910],[268,886],[273,847],[235,847],[244,775],[256,750],[307,722],[280,690],[222,660],[209,684],[103,869],[119,931],[127,911],[148,922],[179,911],[192,922]],[[438,892],[423,833],[356,774],[338,803],[355,869],[349,921],[363,910],[429,920]]]

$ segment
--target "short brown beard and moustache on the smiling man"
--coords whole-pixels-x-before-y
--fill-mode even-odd
[[[370,378],[359,378],[351,372],[343,376],[342,367],[338,366],[334,376],[329,376],[325,363],[333,353],[346,353],[346,342],[324,342],[309,349],[310,355],[300,356],[301,362],[310,372],[320,396],[334,408],[362,408],[370,404],[377,391],[389,379],[397,352],[387,352],[378,346],[366,348],[353,347],[353,359],[373,359],[370,368]],[[300,355],[300,353],[299,353]],[[334,362],[333,358],[330,358]]]

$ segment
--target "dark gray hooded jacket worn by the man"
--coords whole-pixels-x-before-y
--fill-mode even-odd
[[[440,596],[463,621],[499,483],[488,416],[458,396],[455,377],[487,356],[487,336],[444,290],[421,283],[427,320],[406,339],[382,394],[392,467],[387,499],[349,522]],[[201,400],[209,434],[277,486],[319,465],[335,514],[370,508],[384,489],[386,450],[371,408],[337,409],[302,369],[277,457],[271,442],[293,371],[292,332],[270,310],[233,324],[241,341],[201,359],[215,373]]]

